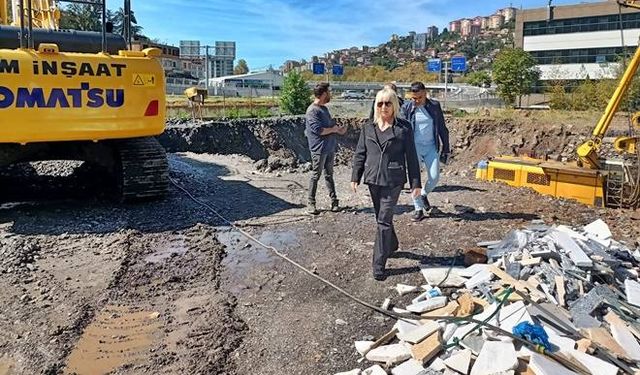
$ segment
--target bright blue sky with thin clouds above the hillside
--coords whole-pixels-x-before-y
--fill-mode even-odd
[[[554,0],[555,5],[576,0]],[[108,2],[110,8],[118,0]],[[236,41],[237,58],[250,68],[309,59],[335,49],[378,45],[391,34],[425,32],[430,25],[490,15],[513,4],[538,8],[546,0],[132,0],[144,34],[169,44]]]

